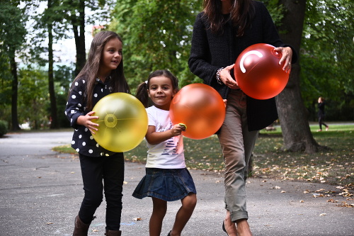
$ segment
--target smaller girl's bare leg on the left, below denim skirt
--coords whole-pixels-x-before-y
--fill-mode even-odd
[[[162,220],[164,220],[167,211],[167,202],[159,198],[152,198],[152,205],[149,233],[150,236],[159,236],[161,234]]]

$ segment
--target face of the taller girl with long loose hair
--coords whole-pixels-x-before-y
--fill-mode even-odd
[[[109,40],[103,48],[99,74],[108,76],[122,61],[122,42],[118,38]]]

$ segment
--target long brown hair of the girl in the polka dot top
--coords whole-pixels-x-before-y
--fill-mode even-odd
[[[87,58],[86,64],[74,80],[75,82],[81,77],[86,78],[86,109],[88,109],[88,111],[91,111],[93,108],[93,89],[96,84],[96,78],[98,77],[98,69],[100,67],[103,49],[105,47],[105,44],[113,38],[118,38],[118,40],[122,42],[122,38],[120,38],[117,33],[112,31],[101,31],[95,35],[91,43],[89,57]],[[113,93],[125,92],[130,94],[130,89],[127,84],[127,80],[124,76],[123,58],[118,67],[112,70],[112,72],[110,73],[110,77],[110,86],[113,88]]]

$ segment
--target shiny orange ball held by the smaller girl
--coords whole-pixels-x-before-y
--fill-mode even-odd
[[[225,118],[225,104],[211,86],[188,84],[173,97],[170,118],[173,124],[186,126],[183,136],[201,140],[219,130]]]

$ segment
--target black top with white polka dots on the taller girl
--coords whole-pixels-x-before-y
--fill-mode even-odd
[[[96,86],[93,89],[93,106],[104,96],[111,94],[110,77],[105,79],[103,83],[100,79],[96,79]],[[79,116],[85,116],[89,111],[86,111],[86,79],[80,78],[74,82],[72,90],[69,93],[67,107],[65,108],[65,116],[70,121],[70,125],[74,128],[72,136],[72,148],[89,157],[110,156],[115,152],[105,150],[98,145],[93,139],[91,132],[84,125],[77,125],[76,120]]]

